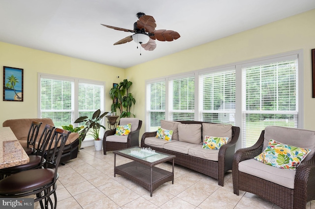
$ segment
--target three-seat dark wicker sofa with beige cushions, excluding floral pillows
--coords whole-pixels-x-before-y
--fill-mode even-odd
[[[157,138],[157,131],[145,132],[141,138],[141,147],[175,155],[175,164],[217,179],[218,184],[223,186],[224,174],[232,169],[239,127],[200,121],[161,120],[161,128],[174,131],[171,141]],[[205,135],[229,137],[229,140],[219,150],[206,150],[202,149]]]

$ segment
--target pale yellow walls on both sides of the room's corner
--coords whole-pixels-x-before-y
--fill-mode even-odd
[[[315,99],[312,98],[311,71],[311,49],[314,48],[315,10],[161,57],[126,70],[0,42],[0,66],[24,69],[24,102],[0,101],[0,123],[9,118],[37,117],[38,72],[103,80],[106,81],[106,92],[112,87],[113,82],[118,83],[123,78],[128,78],[133,82],[130,91],[136,99],[136,104],[131,111],[143,121],[141,136],[145,130],[144,95],[147,79],[303,49],[304,128],[315,130],[313,125]],[[88,74],[85,73],[87,70]],[[117,75],[120,78],[116,78]],[[108,96],[106,100],[110,101]],[[110,110],[108,102],[106,109]]]

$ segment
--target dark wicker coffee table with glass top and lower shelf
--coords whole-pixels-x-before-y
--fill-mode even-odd
[[[164,153],[144,152],[141,147],[131,147],[124,150],[116,150],[114,153],[114,177],[121,175],[152,192],[163,183],[174,183],[174,158],[176,156]],[[132,159],[123,165],[116,166],[116,155]],[[162,162],[173,160],[172,172],[155,167]]]

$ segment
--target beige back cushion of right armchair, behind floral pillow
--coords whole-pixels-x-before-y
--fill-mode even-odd
[[[265,128],[263,150],[268,146],[270,139],[294,147],[311,149],[311,152],[304,159],[306,161],[311,159],[315,154],[315,131],[267,126]]]

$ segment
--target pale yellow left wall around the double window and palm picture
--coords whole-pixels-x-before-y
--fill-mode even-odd
[[[125,69],[3,42],[0,42],[0,66],[1,78],[3,78],[2,66],[24,69],[24,101],[11,102],[0,100],[0,124],[7,119],[38,117],[38,73],[105,81],[105,107],[107,111],[110,110],[112,103],[108,94],[109,89],[113,87],[113,83],[120,82],[125,78]],[[117,76],[120,76],[120,78],[116,78]],[[3,85],[1,85],[1,89],[3,90]]]

